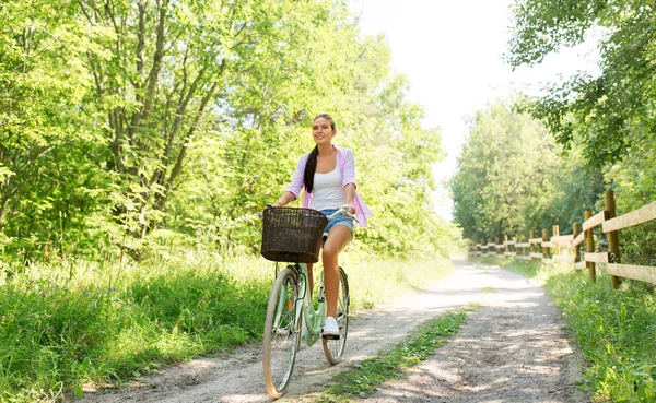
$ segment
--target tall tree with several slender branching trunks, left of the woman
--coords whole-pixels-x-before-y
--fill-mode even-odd
[[[259,109],[242,108],[232,94],[272,72],[259,69],[273,60],[269,52],[295,45],[290,38],[298,31],[303,40],[302,27],[330,10],[330,3],[267,0],[79,4],[105,51],[89,62],[112,151],[115,213],[141,237],[161,221],[195,137],[215,115],[257,127],[261,114],[251,110]]]

